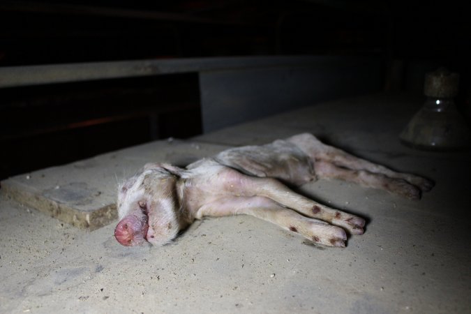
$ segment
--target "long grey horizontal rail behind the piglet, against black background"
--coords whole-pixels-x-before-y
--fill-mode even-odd
[[[304,56],[304,57],[218,57],[195,59],[147,59],[92,63],[63,63],[41,66],[0,67],[0,88],[40,84],[82,82],[122,77],[142,77],[172,73],[191,73],[208,70],[234,70],[276,66],[329,67],[339,62],[350,63],[361,57]],[[364,58],[365,61],[367,58]]]

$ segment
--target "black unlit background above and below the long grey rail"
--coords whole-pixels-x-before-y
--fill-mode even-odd
[[[470,26],[458,1],[0,1],[0,66],[379,56],[385,91],[421,94],[422,70],[447,66],[459,72],[458,105],[465,111]],[[0,89],[0,179],[201,133],[197,80],[196,74],[179,74]]]

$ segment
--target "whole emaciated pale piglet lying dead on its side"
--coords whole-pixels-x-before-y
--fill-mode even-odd
[[[287,188],[336,178],[419,199],[433,182],[389,170],[327,146],[311,134],[263,146],[228,149],[185,169],[149,163],[119,188],[120,222],[114,235],[124,246],[160,246],[204,216],[248,214],[317,244],[344,247],[363,234],[365,220],[319,204]],[[346,231],[346,232],[345,232]]]

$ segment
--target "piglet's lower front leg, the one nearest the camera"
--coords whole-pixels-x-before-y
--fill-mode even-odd
[[[295,232],[302,237],[324,246],[345,247],[347,234],[341,227],[324,221],[306,218],[287,209],[267,197],[228,196],[209,204],[204,204],[196,218],[202,216],[251,215],[269,221],[284,230]]]

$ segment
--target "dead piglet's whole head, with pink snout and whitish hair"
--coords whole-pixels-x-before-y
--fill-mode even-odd
[[[161,246],[177,236],[181,227],[178,170],[166,164],[147,164],[119,187],[120,221],[114,237],[120,244],[140,246],[149,242]]]

